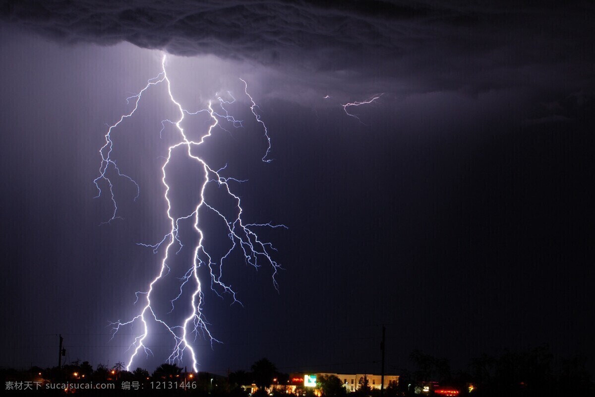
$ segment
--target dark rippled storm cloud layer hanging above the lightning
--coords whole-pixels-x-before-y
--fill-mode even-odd
[[[62,42],[214,54],[393,92],[593,90],[593,5],[389,1],[2,1]],[[303,75],[302,75],[303,73]],[[313,79],[316,79],[314,77]],[[322,80],[322,79],[321,79]],[[337,84],[339,83],[339,84]],[[349,89],[348,89],[349,90]]]

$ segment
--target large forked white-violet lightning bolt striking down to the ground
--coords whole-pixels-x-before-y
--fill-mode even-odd
[[[170,79],[167,75],[165,70],[165,55],[161,61],[161,73],[158,76],[154,77],[153,79],[149,79],[146,86],[140,90],[139,93],[136,95],[130,96],[127,98],[127,102],[130,101],[133,103],[133,110],[130,111],[128,114],[124,114],[120,117],[120,119],[109,126],[109,129],[105,135],[105,145],[99,150],[99,154],[101,155],[101,166],[99,167],[99,176],[93,181],[95,186],[98,189],[98,197],[104,193],[101,189],[100,185],[107,186],[107,195],[112,202],[114,210],[111,213],[111,217],[107,221],[108,223],[115,220],[116,218],[120,218],[118,215],[118,206],[117,201],[115,199],[115,189],[114,184],[112,183],[112,179],[115,177],[121,177],[126,180],[129,180],[136,186],[137,195],[139,196],[140,188],[139,185],[129,176],[122,173],[120,168],[118,168],[117,162],[114,158],[111,157],[112,155],[112,148],[114,146],[114,142],[112,142],[112,133],[114,129],[118,127],[118,125],[126,118],[131,117],[134,112],[136,112],[137,108],[139,107],[139,102],[142,98],[143,93],[146,90],[150,89],[153,86],[158,84],[164,83],[167,86],[167,92],[169,95],[169,100],[179,112],[179,118],[177,120],[164,120],[161,122],[162,129],[159,132],[161,135],[162,131],[165,128],[165,123],[169,123],[173,125],[177,130],[177,135],[179,136],[179,140],[174,143],[173,145],[169,146],[167,149],[167,157],[165,157],[165,161],[161,167],[162,176],[161,176],[161,183],[164,186],[164,198],[165,202],[167,202],[167,210],[165,211],[165,215],[167,215],[170,229],[167,234],[155,244],[141,244],[143,246],[148,246],[153,249],[155,253],[162,251],[162,258],[159,265],[159,271],[155,278],[149,283],[148,289],[146,291],[139,291],[136,292],[136,302],[140,300],[144,302],[142,309],[140,312],[129,321],[116,321],[114,323],[110,323],[112,326],[113,336],[115,333],[120,330],[123,326],[133,326],[135,323],[142,324],[142,332],[140,332],[136,337],[134,337],[134,341],[131,343],[130,348],[127,351],[132,351],[130,355],[130,359],[128,364],[126,365],[126,370],[130,370],[130,367],[135,358],[139,355],[140,351],[143,351],[146,355],[151,354],[151,349],[145,344],[145,339],[149,335],[149,329],[152,326],[163,327],[166,331],[166,334],[171,335],[171,340],[173,342],[173,350],[169,357],[167,357],[168,362],[181,362],[184,357],[184,352],[190,355],[190,359],[192,361],[192,368],[194,371],[198,371],[198,360],[196,358],[196,351],[195,348],[192,347],[192,342],[196,340],[199,334],[201,334],[205,339],[208,339],[211,343],[211,346],[214,342],[221,343],[219,340],[215,339],[214,336],[211,335],[211,332],[208,330],[208,322],[206,321],[205,316],[202,313],[202,307],[205,302],[205,295],[203,294],[202,290],[202,283],[199,279],[198,269],[203,266],[206,267],[206,270],[210,274],[210,287],[211,289],[217,293],[217,295],[221,296],[221,293],[229,293],[231,298],[233,299],[233,303],[238,302],[241,304],[240,301],[236,299],[236,293],[233,289],[231,289],[230,285],[226,285],[221,277],[223,275],[223,265],[226,260],[230,257],[233,251],[242,252],[245,257],[246,263],[252,265],[253,267],[261,267],[262,264],[271,265],[273,268],[273,283],[275,288],[278,288],[277,281],[275,280],[275,274],[277,271],[280,270],[280,265],[273,260],[271,257],[270,251],[274,251],[273,245],[268,242],[264,242],[259,239],[258,235],[256,235],[255,230],[258,227],[284,227],[284,225],[277,225],[269,223],[245,223],[242,219],[243,210],[241,207],[240,197],[237,196],[232,192],[230,187],[230,182],[244,182],[241,180],[233,179],[231,177],[224,177],[221,173],[225,170],[226,167],[220,168],[216,170],[214,167],[211,167],[205,160],[197,155],[193,154],[192,149],[196,148],[199,145],[202,145],[206,139],[208,139],[212,133],[215,126],[219,125],[220,120],[227,120],[234,127],[242,126],[242,121],[234,119],[230,114],[228,114],[225,106],[231,104],[235,101],[235,98],[231,96],[233,101],[224,101],[224,99],[217,98],[218,107],[221,108],[220,113],[215,112],[212,107],[211,101],[208,102],[208,106],[206,109],[190,112],[182,107],[180,102],[177,102],[174,99],[174,95],[171,91],[171,83]],[[242,79],[240,79],[242,80]],[[256,118],[256,121],[261,124],[264,129],[264,135],[267,139],[268,147],[267,151],[265,152],[262,161],[270,162],[271,160],[268,159],[268,155],[270,154],[271,150],[271,139],[268,135],[267,126],[261,120],[259,112],[256,111],[258,105],[255,104],[252,96],[248,93],[248,83],[245,80],[242,80],[244,83],[244,92],[246,96],[248,96],[250,101],[250,111]],[[186,133],[184,132],[183,127],[181,126],[184,117],[187,115],[196,115],[199,113],[207,113],[212,122],[204,135],[201,136],[200,140],[190,140]],[[221,127],[221,126],[220,126]],[[223,127],[221,127],[223,129]],[[185,154],[184,154],[185,153]],[[171,202],[171,191],[170,185],[168,184],[168,173],[167,168],[170,164],[171,159],[175,155],[186,155],[188,158],[194,160],[196,162],[196,167],[199,167],[199,170],[202,170],[204,175],[204,182],[200,187],[200,198],[198,202],[196,202],[194,206],[194,210],[189,213],[185,214],[181,217],[174,217],[172,215],[172,202]],[[228,195],[230,199],[235,203],[234,204],[234,215],[230,217],[230,215],[224,215],[223,210],[217,207],[217,203],[208,202],[205,199],[205,191],[209,189],[210,186],[216,186],[218,189],[224,189],[224,192]],[[105,189],[105,188],[104,188]],[[136,198],[135,198],[136,199]],[[203,237],[205,236],[205,230],[202,230],[199,227],[199,211],[212,211],[213,214],[216,215],[218,219],[221,220],[221,223],[225,225],[227,238],[230,240],[231,248],[221,257],[215,258],[213,255],[209,254],[206,251],[205,247],[203,246]],[[227,213],[227,212],[226,212]],[[177,296],[171,299],[171,311],[174,310],[174,304],[179,300],[183,299],[184,292],[190,290],[190,292],[186,292],[186,295],[190,293],[190,296],[187,296],[189,299],[189,303],[191,309],[184,315],[182,321],[179,321],[176,324],[170,324],[162,318],[154,311],[152,307],[152,292],[154,291],[154,287],[156,283],[160,282],[167,274],[170,272],[170,266],[167,264],[168,259],[170,258],[171,252],[177,248],[176,252],[180,252],[183,245],[180,240],[179,236],[179,227],[180,224],[184,221],[192,221],[193,228],[196,231],[196,235],[198,236],[198,242],[193,247],[193,260],[192,263],[189,264],[186,273],[184,276],[179,279],[179,293]],[[171,312],[170,311],[170,312]],[[154,324],[153,324],[154,323]],[[192,338],[192,334],[194,337]],[[112,336],[112,337],[113,337]],[[191,339],[192,338],[192,339]]]

